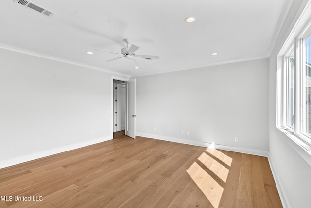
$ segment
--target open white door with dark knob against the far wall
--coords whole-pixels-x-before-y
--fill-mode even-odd
[[[126,127],[125,135],[135,139],[135,101],[136,101],[136,80],[130,79],[126,82],[127,108],[126,108]]]

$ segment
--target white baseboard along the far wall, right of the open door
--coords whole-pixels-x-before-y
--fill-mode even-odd
[[[160,135],[148,134],[148,133],[136,132],[136,136],[164,140],[164,141],[169,141],[169,142],[176,142],[176,143],[187,144],[187,145],[200,146],[200,147],[209,147],[211,145],[211,143],[207,143],[207,142],[199,142],[199,141],[193,141],[193,140],[188,140],[188,139],[180,139],[180,138],[160,136]],[[245,153],[245,154],[264,156],[264,157],[268,157],[269,155],[268,151],[263,151],[263,150],[230,147],[230,146],[225,146],[225,145],[220,145],[220,144],[213,144],[213,145],[215,149],[219,149],[219,150],[235,151],[235,152],[240,152],[240,153]]]

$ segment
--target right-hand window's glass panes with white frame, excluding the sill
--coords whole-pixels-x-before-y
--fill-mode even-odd
[[[306,24],[307,25],[307,24]],[[311,24],[308,24],[311,25]],[[278,128],[311,148],[311,26],[278,56]]]

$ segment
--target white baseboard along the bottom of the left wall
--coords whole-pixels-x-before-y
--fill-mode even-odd
[[[36,153],[33,153],[33,154],[28,154],[28,155],[24,155],[24,156],[20,156],[20,157],[16,157],[16,158],[8,159],[8,160],[3,160],[3,161],[0,161],[0,168],[5,168],[5,167],[9,167],[9,166],[20,164],[20,163],[28,162],[28,161],[31,161],[31,160],[39,159],[39,158],[42,158],[42,157],[47,157],[47,156],[50,156],[50,155],[53,155],[53,154],[58,154],[58,153],[61,153],[61,152],[65,152],[65,151],[70,151],[70,150],[86,147],[86,146],[97,144],[97,143],[100,143],[100,142],[105,142],[105,141],[108,141],[108,140],[111,140],[111,139],[112,139],[112,136],[101,137],[101,138],[98,138],[98,139],[94,139],[94,140],[90,140],[90,141],[86,141],[86,142],[81,142],[81,143],[78,143],[78,144],[72,144],[72,145],[68,145],[68,146],[65,146],[65,147],[60,147],[60,148],[56,148],[56,149],[52,149],[52,150],[47,150],[47,151],[36,152]]]

